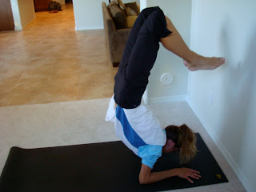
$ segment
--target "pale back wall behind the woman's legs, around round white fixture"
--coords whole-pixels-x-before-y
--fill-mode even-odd
[[[141,10],[144,6],[159,6],[182,35],[186,44],[190,45],[191,0],[141,0]],[[162,74],[173,75],[173,82],[164,86],[160,82]],[[183,65],[182,58],[166,50],[160,43],[158,58],[151,70],[149,84],[143,99],[150,102],[185,101],[187,91],[188,70]]]

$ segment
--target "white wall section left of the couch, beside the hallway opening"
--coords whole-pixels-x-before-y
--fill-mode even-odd
[[[75,0],[75,30],[103,29],[102,2],[108,0]]]

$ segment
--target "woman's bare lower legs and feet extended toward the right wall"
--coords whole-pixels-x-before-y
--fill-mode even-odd
[[[166,17],[166,26],[173,33],[166,38],[161,38],[162,45],[184,59],[184,65],[189,70],[214,70],[225,63],[225,58],[205,58],[191,51],[183,41],[178,30],[174,27],[170,18]]]

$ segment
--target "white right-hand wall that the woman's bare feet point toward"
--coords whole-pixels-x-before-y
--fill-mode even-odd
[[[190,48],[224,56],[190,72],[188,102],[249,192],[256,191],[256,2],[193,0]]]

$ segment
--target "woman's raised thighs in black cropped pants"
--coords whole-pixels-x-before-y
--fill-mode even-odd
[[[162,10],[159,7],[149,10],[143,10],[134,23],[114,77],[114,100],[122,108],[132,109],[140,105],[157,58],[160,39],[171,33],[166,28]]]

